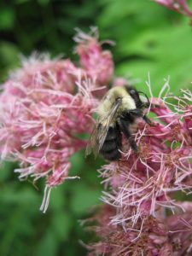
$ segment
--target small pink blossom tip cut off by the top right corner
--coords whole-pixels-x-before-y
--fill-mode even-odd
[[[186,0],[154,0],[156,3],[166,6],[168,9],[177,11],[178,13],[192,17],[192,11],[189,9]]]

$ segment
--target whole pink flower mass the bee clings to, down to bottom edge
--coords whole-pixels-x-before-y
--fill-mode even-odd
[[[161,99],[168,86],[151,98],[154,124],[137,124],[139,154],[125,141],[121,160],[99,170],[107,205],[93,218],[101,241],[88,246],[90,255],[192,254],[192,204],[176,200],[192,191],[192,93],[172,96],[175,105]]]

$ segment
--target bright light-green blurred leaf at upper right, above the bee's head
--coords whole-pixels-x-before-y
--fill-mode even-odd
[[[180,38],[182,44],[177,44]],[[191,81],[190,67],[192,65],[191,32],[188,26],[168,26],[164,30],[148,30],[138,35],[126,45],[121,45],[121,55],[145,56],[146,59],[136,61],[122,61],[118,73],[127,71],[133,77],[147,79],[150,73],[152,89],[157,96],[163,79],[170,76],[172,92],[177,93],[180,88],[188,87]],[[143,85],[142,85],[143,86]]]

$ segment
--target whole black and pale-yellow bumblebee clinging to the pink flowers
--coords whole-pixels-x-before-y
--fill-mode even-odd
[[[119,160],[122,134],[137,153],[137,143],[131,135],[131,124],[137,118],[143,118],[151,125],[150,119],[144,113],[144,109],[149,106],[148,96],[132,86],[117,86],[108,90],[97,109],[98,118],[86,148],[86,155],[93,149],[95,155],[102,154],[106,160]]]

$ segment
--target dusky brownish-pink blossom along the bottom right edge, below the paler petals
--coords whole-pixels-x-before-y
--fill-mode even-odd
[[[89,219],[88,230],[94,230],[101,237],[100,241],[85,246],[90,251],[89,256],[191,255],[191,203],[184,213],[178,211],[164,218],[146,216],[134,227],[129,222],[125,222],[124,227],[111,225],[109,221],[114,212],[115,208],[103,206],[98,208],[94,218]]]

